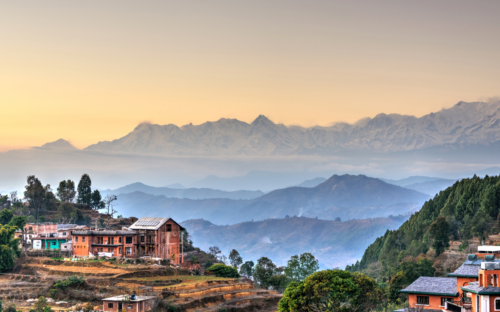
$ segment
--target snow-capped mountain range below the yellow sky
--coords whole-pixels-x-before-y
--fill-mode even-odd
[[[113,141],[85,149],[166,155],[311,155],[340,150],[394,152],[447,143],[488,143],[500,139],[500,101],[458,102],[420,118],[378,114],[357,125],[336,123],[303,128],[275,124],[259,115],[248,124],[221,118],[200,125],[141,123]]]

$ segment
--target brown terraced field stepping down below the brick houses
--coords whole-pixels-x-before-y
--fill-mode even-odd
[[[190,273],[178,267],[153,266],[153,263],[135,265],[30,258],[11,272],[0,275],[0,299],[4,303],[14,302],[18,310],[27,312],[32,308],[32,302],[26,300],[47,297],[56,280],[72,275],[83,276],[84,283],[77,289],[57,294],[50,304],[53,310],[70,311],[76,304],[88,302],[100,310],[101,299],[134,293],[156,296],[175,305],[179,312],[216,312],[222,309],[268,312],[277,309],[281,298],[275,291],[256,288],[238,279]]]

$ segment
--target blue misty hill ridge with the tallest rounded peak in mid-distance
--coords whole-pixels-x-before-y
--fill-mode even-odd
[[[141,217],[145,211],[150,216],[168,212],[174,220],[203,218],[218,224],[285,215],[347,220],[411,213],[428,199],[428,195],[364,175],[333,175],[313,188],[289,187],[251,200],[192,200],[150,194],[119,194],[119,213]]]

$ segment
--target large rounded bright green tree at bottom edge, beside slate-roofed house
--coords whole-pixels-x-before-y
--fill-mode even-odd
[[[383,300],[376,281],[362,273],[325,270],[291,282],[278,312],[356,312],[374,310]]]

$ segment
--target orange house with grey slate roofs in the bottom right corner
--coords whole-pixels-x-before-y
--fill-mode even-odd
[[[483,247],[496,246],[479,246],[479,252],[468,255],[448,278],[419,277],[399,292],[408,294],[410,307],[449,312],[500,311],[500,260],[492,255],[496,250],[493,248],[492,253],[484,255],[485,259],[478,259],[478,254],[484,254],[481,251],[488,251]]]

